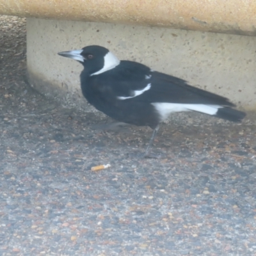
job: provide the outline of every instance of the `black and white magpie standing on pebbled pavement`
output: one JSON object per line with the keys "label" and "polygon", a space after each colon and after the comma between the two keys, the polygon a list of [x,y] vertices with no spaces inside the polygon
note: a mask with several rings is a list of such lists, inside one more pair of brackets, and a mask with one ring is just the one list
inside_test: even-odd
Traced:
{"label": "black and white magpie standing on pebbled pavement", "polygon": [[171,113],[196,111],[232,122],[241,122],[246,116],[233,109],[235,105],[225,97],[141,63],[119,60],[100,45],[58,54],[83,65],[81,90],[92,106],[118,122],[153,129],[144,157],[152,157],[150,147],[159,125]]}

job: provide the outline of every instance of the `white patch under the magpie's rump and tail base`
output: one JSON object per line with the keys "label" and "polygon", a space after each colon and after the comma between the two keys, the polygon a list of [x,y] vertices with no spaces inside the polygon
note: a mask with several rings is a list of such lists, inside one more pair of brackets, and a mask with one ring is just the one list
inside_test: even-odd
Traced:
{"label": "white patch under the magpie's rump and tail base", "polygon": [[198,111],[208,115],[216,115],[218,108],[223,108],[218,105],[204,105],[204,104],[179,104],[179,103],[166,103],[166,102],[155,102],[151,103],[156,111],[161,115],[161,121],[166,119],[172,112],[182,111]]}

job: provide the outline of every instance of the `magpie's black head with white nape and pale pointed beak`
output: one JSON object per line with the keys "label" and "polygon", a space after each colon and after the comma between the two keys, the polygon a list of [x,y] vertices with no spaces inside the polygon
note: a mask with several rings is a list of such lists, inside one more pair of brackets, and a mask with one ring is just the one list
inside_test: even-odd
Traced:
{"label": "magpie's black head with white nape and pale pointed beak", "polygon": [[90,76],[108,71],[120,63],[112,52],[99,45],[86,46],[81,50],[58,52],[58,54],[82,63]]}

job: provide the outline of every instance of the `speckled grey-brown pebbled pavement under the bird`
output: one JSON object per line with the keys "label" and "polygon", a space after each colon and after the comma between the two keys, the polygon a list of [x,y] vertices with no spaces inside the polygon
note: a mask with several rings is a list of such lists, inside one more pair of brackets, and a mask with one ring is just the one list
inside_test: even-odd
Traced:
{"label": "speckled grey-brown pebbled pavement under the bird", "polygon": [[149,128],[29,87],[25,19],[0,16],[0,54],[0,255],[256,255],[252,121],[186,114],[143,159]]}

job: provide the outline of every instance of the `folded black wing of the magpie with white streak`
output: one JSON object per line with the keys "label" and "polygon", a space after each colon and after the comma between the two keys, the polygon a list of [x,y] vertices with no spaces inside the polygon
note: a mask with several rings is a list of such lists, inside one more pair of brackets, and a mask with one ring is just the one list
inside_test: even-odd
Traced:
{"label": "folded black wing of the magpie with white streak", "polygon": [[121,61],[118,67],[104,72],[99,79],[99,88],[109,100],[234,106],[225,97],[133,61]]}

